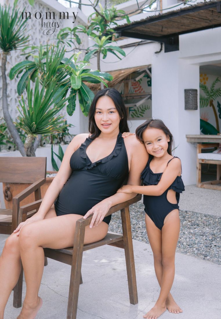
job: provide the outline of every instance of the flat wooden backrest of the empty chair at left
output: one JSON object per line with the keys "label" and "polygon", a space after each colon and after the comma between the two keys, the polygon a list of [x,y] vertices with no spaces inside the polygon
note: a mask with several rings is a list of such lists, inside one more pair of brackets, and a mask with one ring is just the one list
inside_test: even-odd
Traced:
{"label": "flat wooden backrest of the empty chair at left", "polygon": [[0,157],[0,182],[36,182],[46,177],[46,163],[46,157]]}

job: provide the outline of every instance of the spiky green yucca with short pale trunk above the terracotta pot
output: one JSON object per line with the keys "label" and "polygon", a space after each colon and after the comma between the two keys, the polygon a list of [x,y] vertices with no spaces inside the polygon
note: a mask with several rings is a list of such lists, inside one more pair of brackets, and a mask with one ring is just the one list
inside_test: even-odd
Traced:
{"label": "spiky green yucca with short pale trunk above the terracotta pot", "polygon": [[[46,89],[45,89],[46,87]],[[64,107],[65,101],[71,99],[64,98],[66,88],[60,90],[56,83],[56,78],[48,83],[44,78],[40,87],[40,79],[37,77],[34,90],[30,85],[30,78],[27,84],[27,102],[23,95],[19,100],[18,123],[16,126],[24,130],[27,134],[24,144],[26,156],[35,156],[34,139],[38,134],[53,134],[63,130],[67,125],[63,125],[63,116],[55,116]],[[58,101],[59,100],[59,101]]]}

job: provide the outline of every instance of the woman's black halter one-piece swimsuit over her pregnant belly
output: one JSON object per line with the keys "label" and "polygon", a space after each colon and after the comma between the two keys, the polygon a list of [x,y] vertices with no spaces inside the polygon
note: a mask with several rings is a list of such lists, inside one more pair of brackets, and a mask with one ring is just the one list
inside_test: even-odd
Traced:
{"label": "woman's black halter one-piece swimsuit over her pregnant belly", "polygon": [[[92,138],[71,155],[72,173],[55,200],[57,216],[78,214],[84,216],[94,205],[110,197],[127,182],[128,157],[126,147],[119,133],[113,152],[103,159],[92,163],[86,154]],[[103,219],[109,224],[111,215]]]}

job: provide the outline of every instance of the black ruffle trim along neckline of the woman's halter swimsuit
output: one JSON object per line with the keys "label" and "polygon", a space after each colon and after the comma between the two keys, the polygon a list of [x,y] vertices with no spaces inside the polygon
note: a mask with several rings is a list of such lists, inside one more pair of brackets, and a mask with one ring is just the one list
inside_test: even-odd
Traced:
{"label": "black ruffle trim along neckline of the woman's halter swimsuit", "polygon": [[109,160],[111,160],[114,156],[118,156],[119,153],[121,152],[121,147],[122,147],[122,136],[121,133],[118,134],[116,145],[114,147],[113,152],[111,154],[107,155],[103,159],[99,159],[98,161],[92,163],[89,157],[86,154],[86,148],[87,146],[92,142],[92,139],[90,137],[86,138],[85,142],[82,143],[80,146],[80,156],[84,159],[86,159],[87,165],[85,166],[85,169],[91,169],[95,166],[97,166],[99,163],[107,163]]}

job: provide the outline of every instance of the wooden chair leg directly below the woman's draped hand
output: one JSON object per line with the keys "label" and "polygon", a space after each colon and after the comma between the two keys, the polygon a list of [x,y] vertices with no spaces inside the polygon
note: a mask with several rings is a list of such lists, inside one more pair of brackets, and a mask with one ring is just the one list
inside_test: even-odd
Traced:
{"label": "wooden chair leg directly below the woman's draped hand", "polygon": [[71,263],[67,319],[76,319],[77,316],[77,301],[81,281],[81,264],[83,256],[84,238],[85,226],[81,226],[81,222],[77,221]]}

